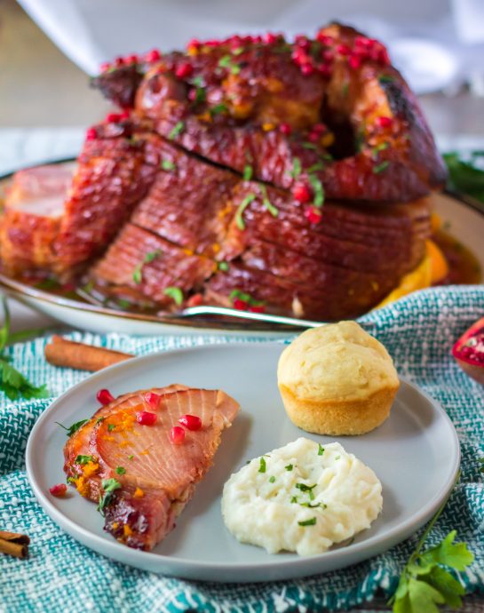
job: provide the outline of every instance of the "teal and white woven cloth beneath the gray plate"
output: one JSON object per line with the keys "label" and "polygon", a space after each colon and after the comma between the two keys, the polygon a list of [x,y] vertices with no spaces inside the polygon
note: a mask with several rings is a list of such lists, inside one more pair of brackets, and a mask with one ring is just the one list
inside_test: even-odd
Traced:
{"label": "teal and white woven cloth beneath the gray plate", "polygon": [[[429,544],[456,529],[457,538],[466,541],[475,554],[474,563],[459,579],[468,591],[480,593],[484,593],[484,475],[478,460],[484,456],[484,388],[459,370],[449,351],[454,340],[483,315],[484,288],[470,286],[421,291],[364,318],[375,323],[376,336],[393,355],[401,375],[440,401],[456,426],[462,477],[432,530]],[[71,336],[136,354],[236,340]],[[85,374],[47,365],[45,342],[40,338],[8,351],[17,368],[37,384],[47,383],[55,396]],[[0,525],[27,533],[32,540],[26,561],[0,555],[2,613],[344,610],[370,599],[378,588],[391,593],[416,545],[417,535],[351,568],[283,583],[217,585],[131,569],[79,545],[36,503],[23,456],[28,433],[50,400],[12,404],[2,397],[0,402]]]}

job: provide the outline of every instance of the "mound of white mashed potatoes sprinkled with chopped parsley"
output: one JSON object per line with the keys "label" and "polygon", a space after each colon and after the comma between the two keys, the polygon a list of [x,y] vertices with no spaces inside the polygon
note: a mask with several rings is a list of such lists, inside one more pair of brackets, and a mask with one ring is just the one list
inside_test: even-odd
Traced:
{"label": "mound of white mashed potatoes sprinkled with chopped parsley", "polygon": [[242,543],[322,553],[369,528],[382,509],[373,471],[338,442],[305,438],[255,458],[226,482],[222,514]]}

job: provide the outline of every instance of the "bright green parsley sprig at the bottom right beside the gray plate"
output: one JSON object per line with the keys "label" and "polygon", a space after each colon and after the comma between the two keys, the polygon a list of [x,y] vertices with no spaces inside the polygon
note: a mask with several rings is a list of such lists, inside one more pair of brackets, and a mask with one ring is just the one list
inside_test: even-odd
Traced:
{"label": "bright green parsley sprig at the bottom right beside the gray plate", "polygon": [[388,601],[388,604],[393,604],[393,613],[438,613],[440,604],[448,604],[453,609],[462,605],[464,587],[442,568],[464,570],[474,559],[465,543],[454,543],[456,530],[449,532],[439,545],[421,553],[444,506],[445,503],[424,530],[417,549],[401,573],[398,587]]}

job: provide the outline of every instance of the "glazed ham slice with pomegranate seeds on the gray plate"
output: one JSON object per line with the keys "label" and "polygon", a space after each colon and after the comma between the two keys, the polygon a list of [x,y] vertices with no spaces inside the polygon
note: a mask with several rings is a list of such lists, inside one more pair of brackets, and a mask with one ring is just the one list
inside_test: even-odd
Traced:
{"label": "glazed ham slice with pomegranate seeds on the gray plate", "polygon": [[[149,551],[174,528],[238,410],[220,390],[175,385],[125,394],[69,438],[64,470],[81,495],[99,503],[108,532]],[[143,411],[155,415],[154,424],[139,423]],[[175,444],[171,430],[185,415],[202,426],[184,429]]]}

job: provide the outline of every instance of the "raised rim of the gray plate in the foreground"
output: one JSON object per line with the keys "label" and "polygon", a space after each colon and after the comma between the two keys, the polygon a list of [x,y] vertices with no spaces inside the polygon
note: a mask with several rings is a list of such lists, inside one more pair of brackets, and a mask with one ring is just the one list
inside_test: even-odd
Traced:
{"label": "raised rim of the gray plate in the foreground", "polygon": [[[258,346],[258,349],[261,348],[261,346],[282,348],[283,345],[284,344],[282,342],[267,341],[264,343],[260,343],[260,346]],[[168,555],[164,555],[160,553],[153,553],[153,552],[142,552],[142,551],[138,551],[135,549],[130,549],[126,547],[126,545],[122,545],[118,543],[117,541],[115,541],[115,539],[110,541],[104,537],[100,537],[97,534],[93,534],[89,529],[83,528],[83,526],[80,526],[75,521],[68,518],[64,513],[60,512],[52,504],[51,499],[47,496],[44,490],[42,490],[40,485],[36,482],[36,468],[35,468],[35,463],[33,459],[33,455],[35,452],[36,436],[38,433],[41,432],[42,427],[44,426],[44,423],[49,420],[51,413],[55,411],[58,405],[61,405],[63,402],[65,402],[68,399],[68,396],[70,394],[75,393],[76,391],[78,391],[79,389],[82,389],[83,387],[90,387],[92,385],[95,385],[97,380],[99,379],[102,380],[102,378],[106,376],[107,372],[110,373],[110,372],[117,371],[117,370],[122,371],[122,370],[130,369],[133,363],[135,363],[138,366],[139,364],[142,364],[143,362],[154,361],[156,359],[159,359],[160,357],[164,357],[165,359],[166,358],[170,359],[170,356],[173,354],[186,354],[186,353],[195,353],[195,352],[202,353],[203,351],[214,351],[214,350],[220,351],[220,350],[226,350],[227,348],[236,350],[236,351],[240,351],[240,350],[248,351],[248,350],[253,350],[254,346],[252,346],[252,344],[245,344],[245,343],[224,342],[224,343],[219,343],[217,345],[209,344],[209,345],[200,345],[200,346],[192,346],[192,347],[182,347],[182,348],[170,349],[166,351],[158,351],[153,354],[140,355],[138,357],[133,358],[130,361],[120,362],[118,364],[114,364],[113,366],[109,366],[107,369],[99,370],[98,372],[91,374],[87,378],[84,378],[82,381],[77,383],[75,386],[72,386],[69,389],[67,389],[66,392],[64,392],[58,398],[56,398],[41,413],[39,418],[37,418],[36,423],[32,427],[30,434],[28,435],[28,442],[27,442],[26,451],[25,451],[28,482],[36,496],[37,502],[43,508],[44,512],[47,513],[51,517],[52,521],[54,521],[58,526],[60,526],[60,528],[63,529],[65,532],[67,532],[67,534],[69,534],[71,537],[75,538],[77,542],[80,542],[83,546],[86,546],[91,551],[99,553],[100,555],[103,555],[105,557],[109,557],[115,561],[128,564],[129,566],[134,567],[134,568],[138,568],[138,569],[145,568],[146,569],[147,565],[145,564],[143,567],[143,564],[142,564],[143,561],[151,560],[154,564],[157,561],[158,567],[162,567],[163,564],[166,564],[168,562],[171,565],[173,570],[167,571],[166,569],[161,569],[161,568],[153,569],[152,566],[150,566],[151,572],[164,574],[164,575],[172,576],[172,577],[189,578],[189,574],[192,572],[193,569],[200,569],[202,571],[202,576],[196,577],[196,580],[201,580],[201,581],[207,580],[207,581],[212,581],[212,582],[215,581],[218,583],[230,583],[230,582],[245,583],[245,582],[255,582],[255,581],[266,581],[267,579],[266,578],[260,578],[260,579],[250,578],[250,579],[244,580],[243,577],[234,578],[234,574],[236,572],[243,573],[246,570],[250,570],[254,572],[257,570],[267,571],[269,569],[274,569],[274,568],[282,569],[283,571],[283,569],[286,569],[286,567],[289,567],[290,569],[291,567],[296,566],[297,568],[303,569],[303,572],[298,573],[298,571],[296,571],[293,575],[289,574],[288,576],[306,577],[306,576],[313,575],[313,574],[321,574],[321,573],[329,572],[330,569],[322,569],[322,570],[316,571],[316,573],[314,573],[314,571],[311,571],[309,569],[308,569],[309,570],[308,572],[304,570],[305,567],[311,568],[314,565],[317,565],[318,561],[321,561],[323,559],[331,561],[331,560],[342,557],[343,563],[337,562],[337,565],[334,567],[334,569],[342,569],[342,568],[345,568],[345,566],[349,566],[359,561],[363,561],[363,560],[367,560],[369,558],[375,557],[375,555],[377,555],[378,553],[387,551],[393,545],[403,542],[411,534],[414,534],[415,532],[417,532],[417,530],[421,528],[424,525],[424,523],[426,523],[427,521],[431,519],[432,515],[440,508],[442,504],[444,504],[444,501],[447,501],[452,490],[454,489],[454,485],[456,483],[456,476],[458,474],[459,466],[461,462],[460,443],[459,443],[458,436],[456,433],[456,428],[454,424],[452,423],[452,420],[448,417],[447,411],[441,406],[440,402],[434,400],[432,396],[424,392],[424,390],[420,386],[417,386],[416,384],[412,383],[409,380],[409,378],[399,375],[401,382],[404,385],[409,386],[417,394],[423,396],[424,399],[427,402],[429,402],[430,405],[432,406],[432,410],[435,411],[437,415],[440,416],[440,418],[443,418],[444,422],[447,424],[451,438],[454,443],[452,447],[453,458],[451,458],[452,461],[451,461],[451,464],[449,464],[449,474],[448,474],[448,477],[445,483],[445,487],[443,488],[443,490],[441,490],[440,493],[434,495],[432,499],[429,500],[423,507],[421,507],[417,511],[417,513],[414,513],[412,517],[409,517],[407,520],[398,524],[393,529],[386,532],[384,535],[379,535],[379,536],[374,535],[372,537],[369,537],[368,539],[361,541],[360,543],[354,543],[353,545],[351,545],[352,550],[350,553],[347,553],[349,551],[349,549],[347,548],[333,549],[333,550],[329,550],[329,552],[319,553],[319,554],[315,554],[315,555],[307,556],[307,557],[301,556],[298,559],[291,559],[291,560],[283,560],[282,558],[278,559],[277,556],[274,556],[274,560],[271,560],[270,562],[265,561],[265,562],[258,562],[258,563],[231,562],[231,561],[228,561],[228,562],[196,561],[194,562],[186,558],[177,558],[176,560],[173,560],[173,558]],[[223,527],[223,524],[222,524],[222,527]],[[77,536],[78,534],[80,534],[82,538],[78,537]],[[89,543],[89,545],[86,545],[86,542]],[[378,545],[384,546],[384,548],[381,549],[380,552],[371,553],[369,551],[372,549],[372,547],[377,547]],[[102,549],[103,551],[99,551],[99,548]],[[116,555],[116,553],[119,553],[119,555]],[[125,555],[123,555],[123,553],[125,553]],[[351,555],[352,553],[353,553],[353,556]],[[139,561],[140,564],[137,565],[137,564],[132,563],[131,561],[124,561],[126,558],[131,558],[131,557],[134,558],[134,561]],[[214,578],[212,573],[215,574],[218,571],[220,571],[222,574],[223,573],[225,573],[226,575],[228,574],[228,576],[227,577],[221,576],[218,578]],[[208,578],[207,576],[210,576],[211,578]],[[191,577],[191,578],[194,578],[194,577]]]}

